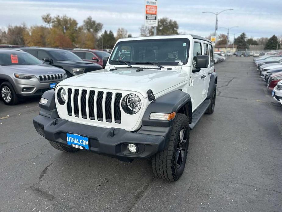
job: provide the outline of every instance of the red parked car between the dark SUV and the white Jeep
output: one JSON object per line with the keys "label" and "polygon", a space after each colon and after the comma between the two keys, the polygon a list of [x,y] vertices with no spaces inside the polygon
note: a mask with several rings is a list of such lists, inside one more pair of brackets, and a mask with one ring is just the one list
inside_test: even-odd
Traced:
{"label": "red parked car between the dark SUV and the white Jeep", "polygon": [[76,54],[82,60],[92,63],[98,63],[101,66],[103,66],[103,57],[110,56],[108,52],[91,50],[91,49],[76,49],[76,50],[72,50],[71,52]]}

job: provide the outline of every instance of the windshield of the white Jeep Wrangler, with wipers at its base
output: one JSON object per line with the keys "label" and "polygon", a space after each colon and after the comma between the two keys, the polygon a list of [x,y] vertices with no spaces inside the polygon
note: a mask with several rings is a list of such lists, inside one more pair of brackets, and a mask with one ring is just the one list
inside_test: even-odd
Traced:
{"label": "windshield of the white Jeep Wrangler, with wipers at its base", "polygon": [[187,38],[121,41],[114,48],[109,64],[121,64],[118,61],[124,60],[130,62],[130,65],[142,65],[143,62],[184,65],[188,61],[188,53]]}

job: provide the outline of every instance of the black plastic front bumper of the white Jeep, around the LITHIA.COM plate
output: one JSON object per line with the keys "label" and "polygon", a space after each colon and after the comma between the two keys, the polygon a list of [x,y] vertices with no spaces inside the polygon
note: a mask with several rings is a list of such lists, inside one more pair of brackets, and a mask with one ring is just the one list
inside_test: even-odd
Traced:
{"label": "black plastic front bumper of the white Jeep, around the LITHIA.COM plate", "polygon": [[[162,151],[171,127],[142,126],[137,132],[119,128],[103,128],[74,123],[60,118],[49,118],[42,113],[33,119],[34,127],[46,139],[67,145],[66,133],[77,133],[89,138],[90,151],[118,159],[149,158]],[[137,153],[130,153],[127,144],[136,144]],[[84,150],[88,151],[88,150]]]}

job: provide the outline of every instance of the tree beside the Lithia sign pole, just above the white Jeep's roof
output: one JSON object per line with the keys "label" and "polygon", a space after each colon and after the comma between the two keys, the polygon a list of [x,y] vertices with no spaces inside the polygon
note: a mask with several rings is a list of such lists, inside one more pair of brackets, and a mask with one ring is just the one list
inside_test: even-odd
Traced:
{"label": "tree beside the Lithia sign pole, just above the white Jeep's roof", "polygon": [[[149,35],[154,35],[154,27],[150,27]],[[167,17],[158,20],[157,35],[178,35],[177,21]]]}

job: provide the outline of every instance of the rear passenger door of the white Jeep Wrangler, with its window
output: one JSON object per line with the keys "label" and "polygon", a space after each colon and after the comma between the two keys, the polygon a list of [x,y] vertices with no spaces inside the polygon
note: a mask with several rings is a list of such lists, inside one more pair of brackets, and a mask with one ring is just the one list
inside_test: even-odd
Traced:
{"label": "rear passenger door of the white Jeep Wrangler, with its window", "polygon": [[205,75],[205,77],[203,78],[204,81],[204,90],[203,90],[203,99],[202,101],[204,101],[207,98],[208,95],[208,90],[209,90],[209,81],[210,81],[210,76],[211,73],[213,72],[213,57],[212,57],[212,49],[210,51],[210,47],[212,48],[211,44],[208,44],[207,42],[203,42],[203,46],[204,46],[204,55],[208,55],[209,56],[209,66],[208,68],[203,68],[203,74]]}

